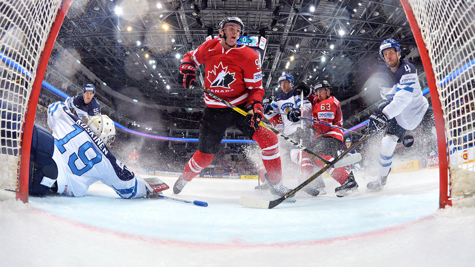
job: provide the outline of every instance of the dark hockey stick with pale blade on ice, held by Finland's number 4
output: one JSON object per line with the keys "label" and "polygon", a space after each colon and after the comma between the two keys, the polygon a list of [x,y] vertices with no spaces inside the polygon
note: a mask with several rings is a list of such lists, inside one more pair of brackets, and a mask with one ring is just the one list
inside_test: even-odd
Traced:
{"label": "dark hockey stick with pale blade on ice, held by Finland's number 4", "polygon": [[285,196],[278,198],[276,200],[260,200],[260,199],[255,199],[252,197],[247,197],[247,196],[241,196],[239,198],[239,204],[242,206],[246,207],[251,207],[251,208],[260,208],[260,209],[272,209],[275,206],[281,204],[285,199],[293,196],[296,192],[298,192],[300,189],[305,187],[307,184],[312,182],[314,179],[322,175],[324,172],[326,172],[332,165],[340,161],[348,152],[350,152],[354,147],[359,145],[361,141],[366,139],[366,137],[369,136],[369,131],[366,132],[358,142],[353,143],[350,147],[348,147],[343,153],[341,153],[334,161],[332,161],[330,164],[327,164],[325,167],[323,167],[320,171],[318,171],[316,174],[312,175],[310,178],[302,182],[299,186],[295,187],[290,193],[286,194]]}

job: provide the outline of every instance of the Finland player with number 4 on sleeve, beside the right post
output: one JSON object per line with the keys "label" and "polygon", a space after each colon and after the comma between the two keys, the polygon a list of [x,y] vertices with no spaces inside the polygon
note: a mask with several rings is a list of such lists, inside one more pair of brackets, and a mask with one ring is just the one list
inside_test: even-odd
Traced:
{"label": "Finland player with number 4 on sleeve, beside the right post", "polygon": [[381,190],[386,184],[394,149],[402,141],[406,130],[414,130],[423,119],[430,117],[429,104],[422,95],[416,67],[400,59],[401,46],[393,39],[383,41],[380,57],[387,66],[378,71],[380,93],[384,100],[370,116],[367,129],[372,133],[382,130],[386,133],[381,141],[380,177],[368,183],[370,190]]}

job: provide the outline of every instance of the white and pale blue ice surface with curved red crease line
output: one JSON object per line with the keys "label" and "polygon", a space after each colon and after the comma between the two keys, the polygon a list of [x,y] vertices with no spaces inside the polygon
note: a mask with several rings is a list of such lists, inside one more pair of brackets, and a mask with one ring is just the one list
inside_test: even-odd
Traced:
{"label": "white and pale blue ice surface with curved red crease line", "polygon": [[373,179],[357,173],[359,192],[338,198],[325,178],[326,195],[299,192],[271,210],[238,204],[272,198],[256,180],[211,178],[176,196],[208,207],[121,199],[101,183],[82,198],[2,201],[0,266],[473,266],[475,208],[438,209],[438,169],[390,174],[366,192]]}

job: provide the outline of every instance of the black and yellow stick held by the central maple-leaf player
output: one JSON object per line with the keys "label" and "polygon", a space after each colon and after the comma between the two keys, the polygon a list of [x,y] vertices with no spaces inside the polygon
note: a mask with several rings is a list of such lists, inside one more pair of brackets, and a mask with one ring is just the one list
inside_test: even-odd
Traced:
{"label": "black and yellow stick held by the central maple-leaf player", "polygon": [[[207,95],[213,97],[214,99],[220,101],[221,103],[227,105],[228,107],[232,108],[233,110],[235,110],[236,112],[240,113],[241,115],[243,116],[247,116],[249,115],[249,113],[245,112],[244,110],[238,108],[237,106],[231,104],[230,102],[224,100],[223,98],[217,96],[216,94],[200,87],[200,86],[192,86],[194,88],[197,88],[201,91],[203,91],[204,93],[206,93]],[[272,128],[270,125],[264,123],[263,121],[261,121],[259,123],[260,126],[272,131],[274,134],[277,134],[277,136],[283,138],[284,140],[286,140],[287,142],[293,144],[294,146],[302,149],[303,151],[307,152],[310,156],[314,157],[314,158],[317,158],[318,160],[322,161],[323,163],[325,164],[330,164],[331,162],[329,162],[328,160],[320,157],[319,155],[317,155],[316,153],[312,152],[310,149],[306,148],[304,145],[300,144],[299,142],[293,140],[292,138],[288,137],[287,135],[285,134],[282,134],[281,132],[277,131],[276,129]],[[342,162],[340,162],[339,164],[335,165],[334,167],[335,168],[338,168],[338,167],[343,167],[343,166],[347,166],[347,165],[351,165],[353,163],[356,163],[358,161],[361,160],[361,154],[360,153],[355,153],[355,154],[352,154],[348,157],[346,157]],[[334,162],[333,164],[335,164],[336,162]]]}

